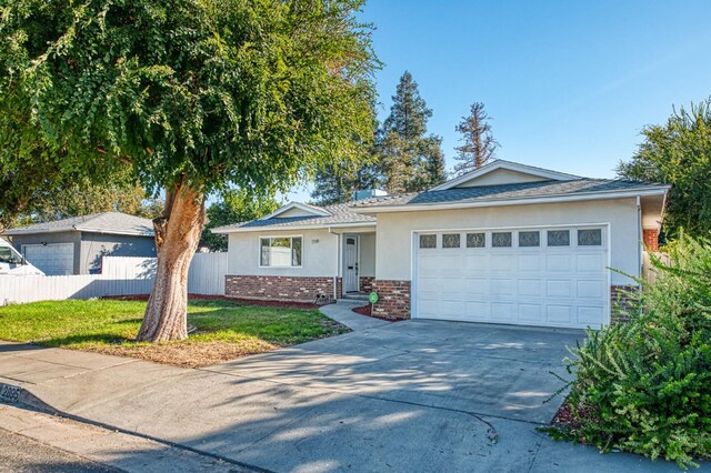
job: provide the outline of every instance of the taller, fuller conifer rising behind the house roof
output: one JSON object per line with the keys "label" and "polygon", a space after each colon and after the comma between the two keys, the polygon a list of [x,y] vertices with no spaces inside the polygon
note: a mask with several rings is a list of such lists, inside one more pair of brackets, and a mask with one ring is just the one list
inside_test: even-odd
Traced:
{"label": "taller, fuller conifer rising behind the house roof", "polygon": [[420,97],[412,74],[405,71],[392,97],[378,150],[384,183],[391,193],[423,191],[445,180],[442,139],[427,134],[432,110]]}

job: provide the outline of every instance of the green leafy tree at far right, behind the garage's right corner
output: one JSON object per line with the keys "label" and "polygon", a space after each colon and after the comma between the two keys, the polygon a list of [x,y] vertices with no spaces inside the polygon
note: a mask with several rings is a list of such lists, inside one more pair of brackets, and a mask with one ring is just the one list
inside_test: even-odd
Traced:
{"label": "green leafy tree at far right, behind the garage's right corner", "polygon": [[663,125],[642,130],[644,142],[618,175],[671,184],[664,231],[675,235],[711,232],[711,99],[674,110]]}

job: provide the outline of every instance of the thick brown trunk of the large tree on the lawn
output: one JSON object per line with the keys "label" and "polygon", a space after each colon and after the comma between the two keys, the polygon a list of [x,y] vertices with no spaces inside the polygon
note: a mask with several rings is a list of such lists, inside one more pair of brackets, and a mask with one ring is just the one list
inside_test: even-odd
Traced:
{"label": "thick brown trunk of the large tree on the lawn", "polygon": [[138,340],[188,338],[188,268],[204,224],[204,195],[179,184],[166,197],[163,217],[153,221],[158,270]]}

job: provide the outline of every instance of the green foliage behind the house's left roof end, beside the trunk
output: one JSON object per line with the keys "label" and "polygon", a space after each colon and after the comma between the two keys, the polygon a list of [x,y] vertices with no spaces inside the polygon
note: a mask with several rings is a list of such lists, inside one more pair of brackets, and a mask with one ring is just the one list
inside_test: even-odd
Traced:
{"label": "green foliage behind the house's left roof end, beside the trunk", "polygon": [[208,223],[202,231],[200,245],[210,251],[227,251],[227,235],[212,233],[212,229],[259,219],[278,208],[279,202],[272,198],[259,198],[244,190],[223,192],[220,200],[208,207]]}

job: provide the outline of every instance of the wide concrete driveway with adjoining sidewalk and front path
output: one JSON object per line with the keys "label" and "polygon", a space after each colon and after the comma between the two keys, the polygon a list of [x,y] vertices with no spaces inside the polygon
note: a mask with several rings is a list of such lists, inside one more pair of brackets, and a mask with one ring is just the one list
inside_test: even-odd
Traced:
{"label": "wide concrete driveway with adjoining sidewalk and front path", "polygon": [[[201,370],[0,345],[0,382],[58,411],[277,472],[677,471],[600,455],[535,427],[558,409],[581,332],[388,323],[323,308],[354,332]],[[711,471],[704,465],[703,471]]]}

